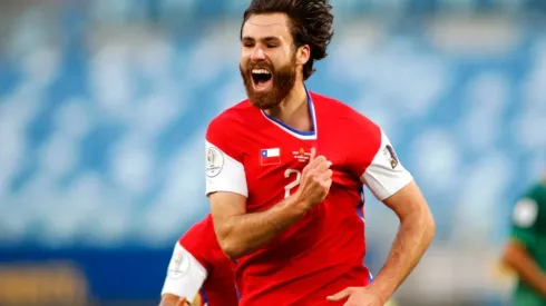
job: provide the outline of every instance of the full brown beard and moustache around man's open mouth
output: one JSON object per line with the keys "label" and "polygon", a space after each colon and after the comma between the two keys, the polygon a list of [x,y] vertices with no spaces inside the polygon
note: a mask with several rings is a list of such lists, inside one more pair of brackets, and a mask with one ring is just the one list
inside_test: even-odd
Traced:
{"label": "full brown beard and moustache around man's open mouth", "polygon": [[[292,59],[286,65],[275,68],[265,61],[252,62],[248,61],[246,67],[240,65],[241,77],[243,78],[244,87],[248,100],[254,107],[266,110],[275,108],[289,96],[294,88],[296,79],[295,52]],[[252,69],[265,69],[271,72],[271,88],[266,91],[254,90],[254,79],[251,73]]]}

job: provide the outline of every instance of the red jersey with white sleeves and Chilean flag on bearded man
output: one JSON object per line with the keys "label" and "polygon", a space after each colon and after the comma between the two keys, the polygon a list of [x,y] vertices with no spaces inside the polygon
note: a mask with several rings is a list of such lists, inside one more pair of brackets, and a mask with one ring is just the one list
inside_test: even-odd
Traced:
{"label": "red jersey with white sleeves and Chilean flag on bearded man", "polygon": [[381,128],[349,106],[308,92],[313,131],[294,130],[245,100],[206,134],[206,193],[244,195],[248,213],[294,194],[311,148],[332,161],[332,186],[285,233],[237,261],[241,306],[343,305],[326,296],[365,286],[363,189],[383,200],[412,180]]}

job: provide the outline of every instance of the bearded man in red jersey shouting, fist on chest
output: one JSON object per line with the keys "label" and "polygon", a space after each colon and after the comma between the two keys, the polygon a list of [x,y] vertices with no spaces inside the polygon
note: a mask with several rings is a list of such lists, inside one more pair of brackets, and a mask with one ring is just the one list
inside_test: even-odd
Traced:
{"label": "bearded man in red jersey shouting, fist on chest", "polygon": [[[326,57],[325,0],[254,0],[241,29],[248,100],[206,134],[206,194],[242,306],[384,305],[430,244],[435,225],[381,129],[306,90]],[[365,253],[365,184],[400,218],[374,282]]]}

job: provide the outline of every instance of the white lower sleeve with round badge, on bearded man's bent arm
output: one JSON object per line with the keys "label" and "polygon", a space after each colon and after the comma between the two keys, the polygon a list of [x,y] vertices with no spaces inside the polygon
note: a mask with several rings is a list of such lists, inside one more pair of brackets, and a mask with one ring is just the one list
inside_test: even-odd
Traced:
{"label": "white lower sleeve with round badge, on bearded man's bent arm", "polygon": [[206,195],[228,191],[248,197],[243,164],[206,141]]}

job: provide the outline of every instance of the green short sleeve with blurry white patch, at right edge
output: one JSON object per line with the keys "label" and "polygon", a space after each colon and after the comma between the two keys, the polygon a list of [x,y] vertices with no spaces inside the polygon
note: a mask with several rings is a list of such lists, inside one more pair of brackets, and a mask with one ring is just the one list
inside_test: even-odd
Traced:
{"label": "green short sleeve with blurry white patch, at right edge", "polygon": [[538,218],[539,206],[532,197],[521,198],[514,206],[511,214],[511,236],[525,246],[533,246],[536,241],[535,224]]}

